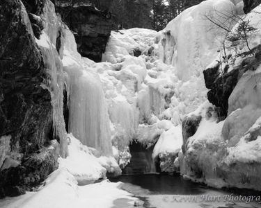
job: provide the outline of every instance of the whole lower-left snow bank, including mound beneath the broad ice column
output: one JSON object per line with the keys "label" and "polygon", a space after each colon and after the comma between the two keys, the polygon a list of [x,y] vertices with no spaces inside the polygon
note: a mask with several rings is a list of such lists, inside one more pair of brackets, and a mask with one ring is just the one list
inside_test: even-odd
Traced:
{"label": "whole lower-left snow bank, including mound beneath the broad ice column", "polygon": [[[104,157],[97,150],[81,144],[72,134],[68,135],[68,157],[58,159],[58,169],[41,187],[23,196],[0,200],[0,207],[113,207],[121,198],[134,205],[127,191],[121,190],[122,183],[111,183],[106,172],[120,171],[113,157]],[[120,173],[118,173],[120,174]],[[102,180],[91,184],[97,180]]]}

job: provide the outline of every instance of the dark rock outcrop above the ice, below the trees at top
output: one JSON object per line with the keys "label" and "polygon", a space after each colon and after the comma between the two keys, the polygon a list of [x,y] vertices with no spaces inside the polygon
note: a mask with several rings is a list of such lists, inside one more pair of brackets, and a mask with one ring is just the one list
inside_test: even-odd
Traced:
{"label": "dark rock outcrop above the ice, below the trees at top", "polygon": [[102,53],[111,35],[111,14],[92,5],[68,6],[56,1],[56,12],[68,24],[82,56],[95,62],[102,61]]}

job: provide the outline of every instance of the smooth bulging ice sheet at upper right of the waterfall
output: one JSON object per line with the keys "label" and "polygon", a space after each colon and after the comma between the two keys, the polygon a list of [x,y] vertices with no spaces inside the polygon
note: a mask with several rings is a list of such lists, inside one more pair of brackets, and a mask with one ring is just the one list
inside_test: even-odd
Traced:
{"label": "smooth bulging ice sheet at upper right of the waterfall", "polygon": [[181,80],[202,76],[202,70],[219,54],[226,35],[212,21],[232,28],[236,21],[228,17],[242,15],[243,6],[242,0],[208,0],[184,10],[161,31],[161,60],[177,67]]}

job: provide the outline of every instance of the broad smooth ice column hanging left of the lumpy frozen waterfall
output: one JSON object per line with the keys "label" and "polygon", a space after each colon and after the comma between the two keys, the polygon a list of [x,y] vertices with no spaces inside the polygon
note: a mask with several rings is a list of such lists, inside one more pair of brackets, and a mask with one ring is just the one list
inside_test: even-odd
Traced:
{"label": "broad smooth ice column hanging left of the lumpy frozen waterfall", "polygon": [[69,98],[69,132],[82,144],[100,150],[102,155],[112,155],[109,114],[99,76],[90,70],[88,60],[77,53],[74,35],[63,31],[63,67]]}

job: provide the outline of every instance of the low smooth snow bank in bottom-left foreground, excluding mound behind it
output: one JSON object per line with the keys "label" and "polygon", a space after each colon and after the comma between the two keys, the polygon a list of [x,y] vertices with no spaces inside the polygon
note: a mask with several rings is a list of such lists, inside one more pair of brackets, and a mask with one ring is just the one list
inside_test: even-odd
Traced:
{"label": "low smooth snow bank in bottom-left foreground, excluding mound behind it", "polygon": [[[120,190],[122,183],[111,183],[109,180],[97,184],[78,186],[73,175],[65,168],[54,171],[45,185],[37,192],[29,192],[18,198],[7,198],[0,202],[3,208],[64,208],[64,207],[113,207],[113,202],[118,199],[129,200],[134,205],[134,200],[130,193]],[[102,196],[102,197],[101,197]]]}

